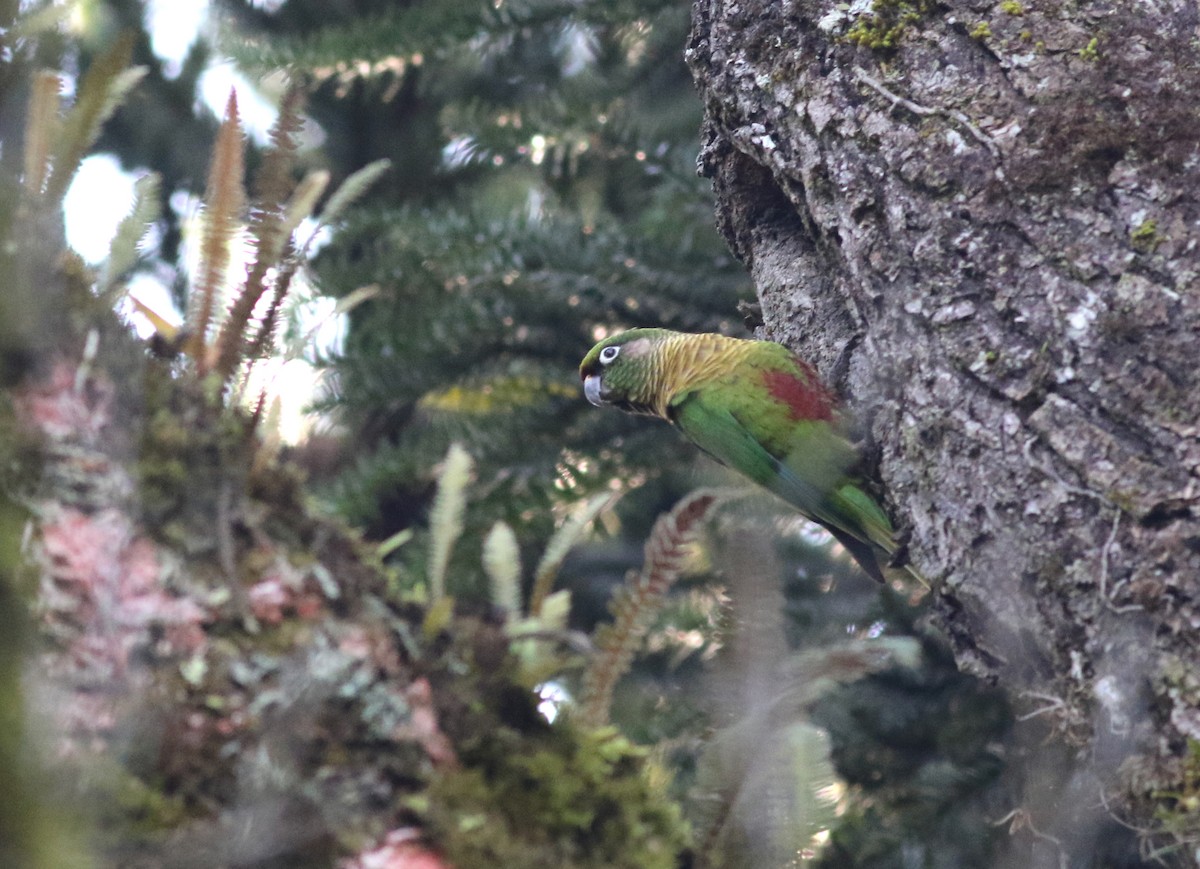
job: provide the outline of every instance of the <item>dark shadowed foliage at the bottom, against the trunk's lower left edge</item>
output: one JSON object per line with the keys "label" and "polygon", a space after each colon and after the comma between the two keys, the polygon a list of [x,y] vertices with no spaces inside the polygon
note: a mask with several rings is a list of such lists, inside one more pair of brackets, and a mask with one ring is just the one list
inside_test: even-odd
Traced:
{"label": "dark shadowed foliage at the bottom, against the trunk's lower left edge", "polygon": [[839,773],[862,793],[818,865],[900,867],[913,855],[920,865],[991,862],[1001,833],[989,823],[988,787],[1003,766],[995,745],[1007,703],[932,640],[923,652],[924,666],[842,685],[814,709]]}

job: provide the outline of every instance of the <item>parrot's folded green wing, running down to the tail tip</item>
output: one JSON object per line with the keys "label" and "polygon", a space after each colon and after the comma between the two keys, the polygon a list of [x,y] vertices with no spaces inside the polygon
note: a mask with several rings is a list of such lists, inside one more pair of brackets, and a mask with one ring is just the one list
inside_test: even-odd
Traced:
{"label": "parrot's folded green wing, running down to the tail tip", "polygon": [[[716,461],[770,490],[810,520],[829,531],[874,579],[883,581],[876,546],[894,549],[887,516],[865,492],[846,480],[844,449],[814,437],[806,455],[772,455],[722,402],[692,390],[671,402],[676,426]],[[823,430],[827,431],[827,430]],[[812,469],[803,474],[796,465]],[[872,545],[874,544],[874,545]]]}

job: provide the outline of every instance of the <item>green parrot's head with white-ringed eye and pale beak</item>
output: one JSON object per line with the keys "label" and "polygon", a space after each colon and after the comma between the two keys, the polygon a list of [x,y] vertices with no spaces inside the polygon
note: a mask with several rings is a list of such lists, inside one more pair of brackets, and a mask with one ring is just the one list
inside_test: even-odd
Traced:
{"label": "green parrot's head with white-ringed eye and pale beak", "polygon": [[598,343],[580,362],[583,395],[596,407],[656,415],[655,352],[670,335],[666,329],[630,329]]}

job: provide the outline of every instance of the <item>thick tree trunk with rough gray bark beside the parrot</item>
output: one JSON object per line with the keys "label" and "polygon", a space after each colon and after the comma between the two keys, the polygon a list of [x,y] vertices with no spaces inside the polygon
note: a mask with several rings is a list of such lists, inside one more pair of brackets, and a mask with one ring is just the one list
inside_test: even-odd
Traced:
{"label": "thick tree trunk with rough gray bark beside the parrot", "polygon": [[870,421],[960,665],[1054,725],[1013,759],[1037,865],[1103,850],[1110,813],[1200,831],[1162,796],[1195,792],[1200,741],[1198,25],[1180,0],[694,10],[701,168],[764,336]]}

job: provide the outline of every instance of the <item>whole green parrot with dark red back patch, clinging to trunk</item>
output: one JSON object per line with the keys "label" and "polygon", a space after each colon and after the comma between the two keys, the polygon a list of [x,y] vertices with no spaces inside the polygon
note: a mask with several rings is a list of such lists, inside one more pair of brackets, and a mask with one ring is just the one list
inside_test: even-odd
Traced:
{"label": "whole green parrot with dark red back patch, clinging to trunk", "polygon": [[790,349],[631,329],[593,347],[580,378],[593,404],[667,420],[721,465],[824,526],[883,581],[881,564],[896,551],[892,523],[853,477],[858,451],[833,392]]}

